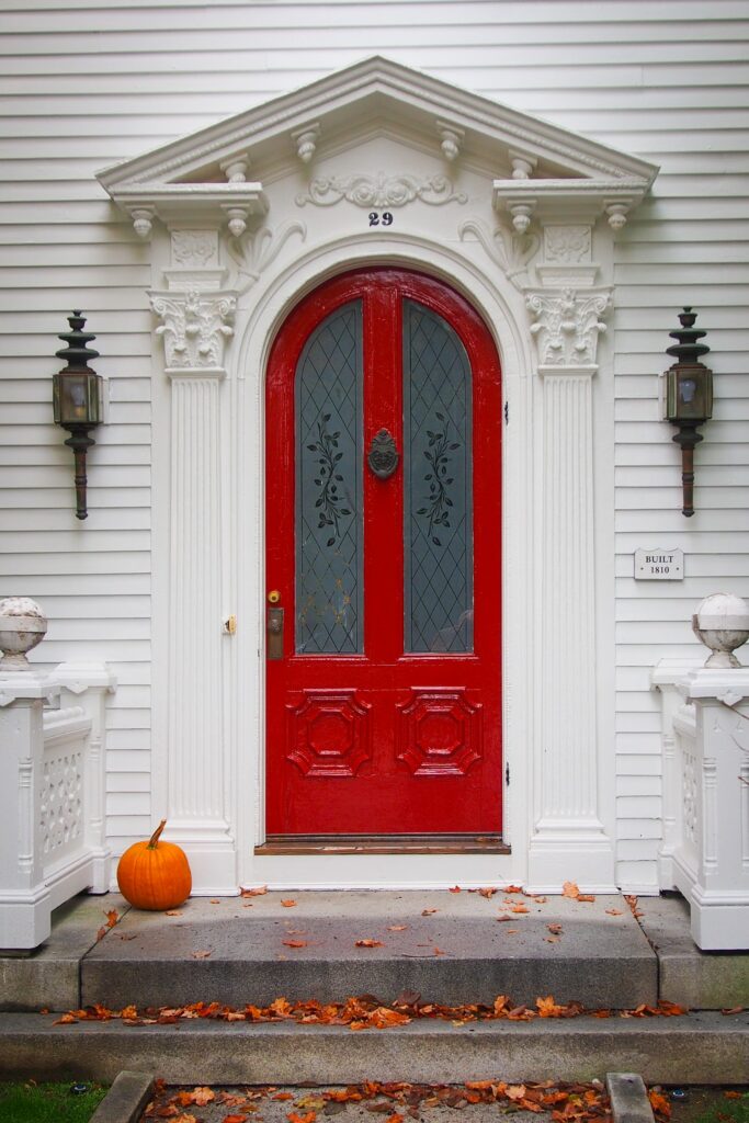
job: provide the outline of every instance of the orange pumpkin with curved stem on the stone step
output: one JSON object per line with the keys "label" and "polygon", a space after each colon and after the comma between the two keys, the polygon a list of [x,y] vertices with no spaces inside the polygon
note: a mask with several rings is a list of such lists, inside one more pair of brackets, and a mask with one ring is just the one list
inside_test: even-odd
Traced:
{"label": "orange pumpkin with curved stem on the stone step", "polygon": [[135,842],[117,867],[117,884],[126,901],[136,909],[163,912],[175,909],[190,896],[192,874],[188,856],[174,842],[159,842],[166,820],[147,842]]}

